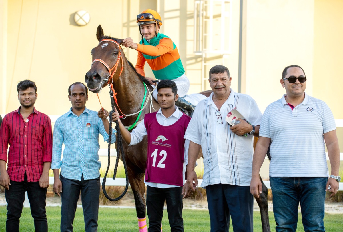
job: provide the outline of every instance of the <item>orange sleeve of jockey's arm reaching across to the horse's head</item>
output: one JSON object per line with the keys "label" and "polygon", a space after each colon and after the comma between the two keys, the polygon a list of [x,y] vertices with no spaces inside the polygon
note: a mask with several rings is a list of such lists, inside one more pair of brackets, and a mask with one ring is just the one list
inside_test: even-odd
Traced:
{"label": "orange sleeve of jockey's arm reaching across to the horse's head", "polygon": [[137,44],[137,51],[142,52],[143,54],[146,54],[148,56],[162,56],[163,54],[166,54],[168,52],[171,52],[174,50],[173,41],[171,41],[170,38],[163,38],[159,40],[159,44],[155,47],[152,45],[142,45]]}

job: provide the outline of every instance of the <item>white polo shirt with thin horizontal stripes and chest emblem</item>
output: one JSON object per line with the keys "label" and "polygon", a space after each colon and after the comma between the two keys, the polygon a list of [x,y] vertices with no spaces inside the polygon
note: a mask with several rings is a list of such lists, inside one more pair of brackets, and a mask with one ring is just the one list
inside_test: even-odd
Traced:
{"label": "white polo shirt with thin horizontal stripes and chest emblem", "polygon": [[324,133],[336,130],[328,105],[305,94],[293,110],[285,96],[265,109],[260,136],[271,138],[269,175],[325,177],[329,175]]}

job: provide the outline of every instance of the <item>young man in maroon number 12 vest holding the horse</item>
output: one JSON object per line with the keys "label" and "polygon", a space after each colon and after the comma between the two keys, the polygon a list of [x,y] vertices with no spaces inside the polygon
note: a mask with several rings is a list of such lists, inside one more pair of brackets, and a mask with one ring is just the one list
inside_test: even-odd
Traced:
{"label": "young man in maroon number 12 vest holding the horse", "polygon": [[[129,146],[141,142],[145,135],[148,136],[144,182],[147,185],[149,232],[161,231],[165,200],[171,231],[184,231],[182,199],[192,194],[187,183],[184,184],[188,153],[185,147],[188,150],[189,145],[189,141],[185,143],[184,136],[190,117],[175,107],[178,99],[175,82],[163,80],[157,85],[157,91],[161,109],[145,114],[143,122],[132,133],[120,122],[117,110],[112,118],[113,121],[118,120],[121,136]],[[145,219],[139,218],[139,222],[142,220]],[[139,226],[144,227],[142,224]]]}

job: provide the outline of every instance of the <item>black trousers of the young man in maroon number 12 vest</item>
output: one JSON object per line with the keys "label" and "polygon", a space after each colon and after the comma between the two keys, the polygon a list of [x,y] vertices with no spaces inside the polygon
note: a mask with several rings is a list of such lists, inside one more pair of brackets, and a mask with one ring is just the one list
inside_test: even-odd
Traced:
{"label": "black trousers of the young man in maroon number 12 vest", "polygon": [[146,188],[146,211],[149,218],[149,232],[161,231],[164,201],[167,203],[170,231],[184,231],[182,219],[182,187]]}

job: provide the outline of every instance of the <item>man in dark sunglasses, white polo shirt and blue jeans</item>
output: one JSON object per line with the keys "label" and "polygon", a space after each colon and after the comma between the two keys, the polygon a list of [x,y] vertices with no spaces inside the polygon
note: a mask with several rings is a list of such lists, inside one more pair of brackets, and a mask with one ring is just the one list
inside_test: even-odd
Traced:
{"label": "man in dark sunglasses, white polo shirt and blue jeans", "polygon": [[[325,102],[305,93],[306,76],[300,66],[287,66],[280,82],[286,94],[264,111],[250,193],[258,198],[262,191],[259,171],[271,141],[269,176],[276,231],[296,231],[299,203],[304,230],[325,231],[326,191],[335,195],[341,179],[335,121]],[[329,179],[325,144],[331,164]]]}

